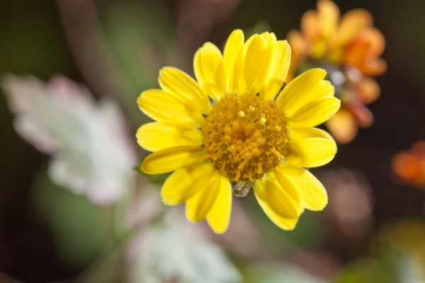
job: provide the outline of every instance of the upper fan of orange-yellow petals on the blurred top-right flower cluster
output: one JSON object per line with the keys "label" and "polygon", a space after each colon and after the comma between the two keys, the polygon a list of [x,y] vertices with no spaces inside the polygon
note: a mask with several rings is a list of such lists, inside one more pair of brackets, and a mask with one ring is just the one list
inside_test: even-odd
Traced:
{"label": "upper fan of orange-yellow petals on the blurred top-right flower cluster", "polygon": [[354,66],[364,76],[378,76],[387,69],[380,58],[385,38],[373,27],[372,15],[363,9],[340,17],[334,2],[319,0],[317,11],[310,10],[302,16],[301,31],[290,31],[288,41],[293,48],[294,67],[312,57]]}

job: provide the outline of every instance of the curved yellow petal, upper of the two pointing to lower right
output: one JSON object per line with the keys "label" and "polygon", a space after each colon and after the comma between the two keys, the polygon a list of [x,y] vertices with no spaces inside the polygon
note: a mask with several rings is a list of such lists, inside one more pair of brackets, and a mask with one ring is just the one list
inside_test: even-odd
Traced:
{"label": "curved yellow petal, upper of the two pointing to lower right", "polygon": [[[280,163],[275,168],[276,177],[283,187],[293,187],[300,194],[301,205],[310,210],[322,210],[328,197],[322,183],[305,168]],[[285,184],[285,185],[283,185]]]}

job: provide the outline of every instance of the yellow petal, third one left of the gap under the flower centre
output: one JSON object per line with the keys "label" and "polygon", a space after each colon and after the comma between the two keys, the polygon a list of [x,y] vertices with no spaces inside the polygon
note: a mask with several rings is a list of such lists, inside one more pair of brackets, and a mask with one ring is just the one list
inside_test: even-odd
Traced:
{"label": "yellow petal, third one left of the gap under the flower centre", "polygon": [[172,173],[162,186],[162,202],[179,204],[203,190],[211,181],[215,168],[210,162],[203,162]]}

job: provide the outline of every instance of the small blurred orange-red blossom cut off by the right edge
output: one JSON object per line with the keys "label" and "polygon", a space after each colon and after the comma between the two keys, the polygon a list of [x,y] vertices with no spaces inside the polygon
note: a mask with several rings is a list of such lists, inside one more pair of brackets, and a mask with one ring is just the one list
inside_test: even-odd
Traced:
{"label": "small blurred orange-red blossom cut off by the right edge", "polygon": [[425,141],[418,141],[409,151],[392,158],[392,172],[400,183],[425,187]]}

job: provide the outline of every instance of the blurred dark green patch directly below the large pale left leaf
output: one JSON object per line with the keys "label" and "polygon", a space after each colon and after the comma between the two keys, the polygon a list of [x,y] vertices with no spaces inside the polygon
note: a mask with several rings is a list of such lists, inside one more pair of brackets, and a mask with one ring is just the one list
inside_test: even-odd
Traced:
{"label": "blurred dark green patch directly below the large pale left leaf", "polygon": [[55,185],[45,170],[35,180],[33,205],[52,231],[62,260],[74,267],[89,265],[113,235],[113,207],[98,207]]}

